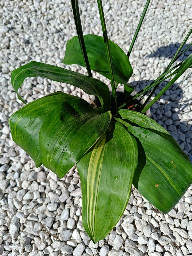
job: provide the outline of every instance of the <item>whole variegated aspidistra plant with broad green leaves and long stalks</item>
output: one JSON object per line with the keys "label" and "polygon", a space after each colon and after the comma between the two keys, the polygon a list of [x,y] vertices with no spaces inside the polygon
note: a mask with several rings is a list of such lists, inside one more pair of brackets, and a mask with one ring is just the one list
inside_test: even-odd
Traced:
{"label": "whole variegated aspidistra plant with broad green leaves and long stalks", "polygon": [[[129,56],[144,20],[147,1],[138,28],[126,55],[108,40],[103,7],[98,7],[103,37],[83,36],[77,0],[71,0],[78,37],[67,43],[65,64],[87,68],[89,76],[39,62],[30,62],[12,72],[11,82],[18,94],[27,77],[44,77],[68,83],[95,95],[96,106],[63,92],[31,102],[14,113],[9,124],[13,140],[35,161],[62,178],[77,164],[82,186],[82,221],[94,243],[115,227],[129,202],[132,184],[155,207],[168,213],[192,182],[192,165],[170,134],[144,113],[192,65],[192,55],[172,67],[183,52],[192,29],[185,37],[167,69],[137,93],[129,84],[133,69]],[[92,78],[94,70],[111,80],[108,86]],[[154,93],[159,84],[174,76],[167,86],[140,112],[127,109],[127,103]],[[116,82],[116,84],[115,84]],[[124,103],[118,106],[116,88],[125,88]],[[147,102],[151,98],[151,93]],[[146,103],[147,103],[146,102]]]}

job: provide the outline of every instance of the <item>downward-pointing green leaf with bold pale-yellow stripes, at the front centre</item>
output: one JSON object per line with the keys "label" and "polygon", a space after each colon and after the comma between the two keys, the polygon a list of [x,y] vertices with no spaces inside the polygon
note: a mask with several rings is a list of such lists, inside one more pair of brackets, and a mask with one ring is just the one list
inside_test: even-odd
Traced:
{"label": "downward-pointing green leaf with bold pale-yellow stripes, at the front centre", "polygon": [[104,239],[123,215],[138,162],[137,142],[124,126],[112,122],[81,158],[83,226],[94,243]]}

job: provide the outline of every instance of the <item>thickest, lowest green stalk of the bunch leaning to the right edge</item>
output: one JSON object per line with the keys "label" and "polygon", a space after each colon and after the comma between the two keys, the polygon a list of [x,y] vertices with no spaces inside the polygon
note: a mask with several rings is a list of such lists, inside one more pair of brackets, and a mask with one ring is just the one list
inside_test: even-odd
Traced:
{"label": "thickest, lowest green stalk of the bunch leaning to the right edge", "polygon": [[192,64],[192,54],[190,54],[185,61],[183,62],[183,65],[176,74],[176,76],[163,88],[161,92],[157,94],[157,96],[141,111],[141,113],[145,113],[148,109],[151,108],[151,106],[159,99],[161,96],[177,81],[177,79],[182,76],[182,74],[191,66]]}

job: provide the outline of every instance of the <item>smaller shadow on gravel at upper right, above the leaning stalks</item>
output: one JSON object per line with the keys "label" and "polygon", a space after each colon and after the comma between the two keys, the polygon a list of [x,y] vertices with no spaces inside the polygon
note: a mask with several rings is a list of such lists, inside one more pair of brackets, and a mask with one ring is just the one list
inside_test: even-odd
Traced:
{"label": "smaller shadow on gravel at upper right, above the leaning stalks", "polygon": [[[146,57],[151,58],[151,57],[165,57],[165,58],[169,58],[172,59],[173,56],[175,55],[176,51],[178,50],[180,44],[170,44],[167,46],[162,46],[160,48],[157,49],[156,52],[147,55]],[[189,46],[188,44],[186,44],[183,47],[183,50],[185,50],[187,48],[187,46]],[[192,53],[192,47],[190,47],[185,53],[184,55],[182,55],[181,57],[178,58],[178,60],[182,61],[184,59],[186,59],[187,56],[189,56]]]}

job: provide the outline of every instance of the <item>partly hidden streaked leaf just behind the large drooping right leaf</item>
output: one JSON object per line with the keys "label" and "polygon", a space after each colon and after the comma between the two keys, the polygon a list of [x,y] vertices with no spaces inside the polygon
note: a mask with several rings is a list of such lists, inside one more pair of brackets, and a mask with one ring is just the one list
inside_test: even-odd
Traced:
{"label": "partly hidden streaked leaf just behind the large drooping right leaf", "polygon": [[[174,138],[156,121],[149,118],[148,116],[141,114],[139,112],[135,112],[132,110],[127,109],[121,109],[119,110],[119,115],[123,120],[126,120],[126,122],[130,123],[133,126],[139,126],[142,128],[146,128],[147,130],[150,130],[158,135],[161,135],[166,140],[168,140],[170,143],[173,144],[173,146],[176,148],[176,150],[187,159],[187,161],[190,162],[189,157],[183,152],[183,150],[179,147],[177,142],[174,140]],[[121,122],[120,118],[116,119],[117,121]]]}

